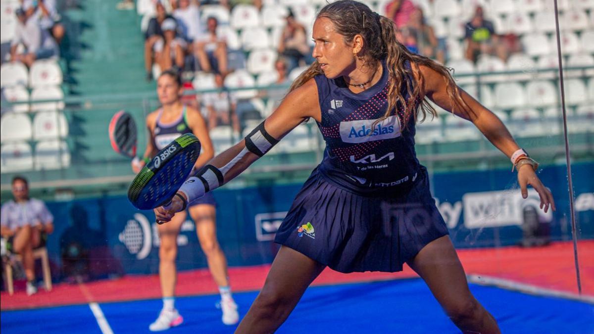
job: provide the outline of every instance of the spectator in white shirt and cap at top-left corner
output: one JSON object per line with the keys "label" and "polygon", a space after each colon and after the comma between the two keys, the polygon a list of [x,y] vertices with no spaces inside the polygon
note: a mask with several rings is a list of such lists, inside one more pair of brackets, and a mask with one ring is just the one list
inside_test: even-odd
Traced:
{"label": "spectator in white shirt and cap at top-left corner", "polygon": [[[10,48],[11,61],[20,61],[27,67],[30,67],[36,59],[59,55],[58,45],[47,30],[39,27],[34,12],[35,7],[31,0],[23,1],[23,6],[15,11],[18,21]],[[21,54],[17,53],[17,47],[20,44],[25,48],[25,52]]]}

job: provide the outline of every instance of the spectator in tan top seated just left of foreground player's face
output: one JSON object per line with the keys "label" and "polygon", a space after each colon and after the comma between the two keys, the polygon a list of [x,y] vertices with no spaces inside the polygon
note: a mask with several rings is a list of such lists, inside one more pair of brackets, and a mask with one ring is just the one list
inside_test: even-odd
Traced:
{"label": "spectator in tan top seated just left of foreground player's face", "polygon": [[300,65],[311,63],[307,33],[305,27],[295,20],[295,14],[289,10],[286,17],[287,24],[280,34],[279,55],[289,62],[289,72]]}

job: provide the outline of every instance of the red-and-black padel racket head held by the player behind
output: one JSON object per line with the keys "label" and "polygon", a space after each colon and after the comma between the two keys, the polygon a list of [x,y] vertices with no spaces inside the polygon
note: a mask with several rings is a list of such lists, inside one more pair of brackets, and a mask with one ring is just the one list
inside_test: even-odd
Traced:
{"label": "red-and-black padel racket head held by the player behind", "polygon": [[136,123],[130,114],[122,110],[113,115],[109,122],[109,140],[115,152],[127,157],[136,155]]}

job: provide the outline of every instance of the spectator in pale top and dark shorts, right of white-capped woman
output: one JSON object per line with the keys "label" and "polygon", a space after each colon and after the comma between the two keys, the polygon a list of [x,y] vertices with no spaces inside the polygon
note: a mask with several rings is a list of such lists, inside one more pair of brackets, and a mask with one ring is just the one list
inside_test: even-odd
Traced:
{"label": "spectator in pale top and dark shorts, right of white-capped woman", "polygon": [[206,34],[194,43],[195,56],[200,62],[201,70],[221,74],[223,78],[229,74],[227,42],[217,34],[219,21],[216,17],[206,20]]}

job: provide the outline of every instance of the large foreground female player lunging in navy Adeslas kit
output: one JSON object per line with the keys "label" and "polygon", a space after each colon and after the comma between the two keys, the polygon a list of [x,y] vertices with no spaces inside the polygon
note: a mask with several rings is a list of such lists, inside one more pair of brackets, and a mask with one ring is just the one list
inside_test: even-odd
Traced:
{"label": "large foreground female player lunging in navy Adeslas kit", "polygon": [[326,266],[345,273],[396,272],[406,262],[463,332],[500,332],[470,293],[429,193],[426,169],[415,156],[415,122],[436,115],[428,100],[472,121],[513,160],[523,196],[532,185],[546,212],[554,201],[536,177],[538,165],[497,116],[458,89],[446,68],[407,51],[396,41],[393,22],[366,5],[326,5],[313,37],[317,61],[279,108],[182,185],[181,197],[156,209],[157,219],[170,219],[183,207],[182,198],[194,200],[236,177],[292,128],[314,118],[326,140],[324,159],[280,226],[275,241],[282,247],[237,331],[274,332]]}

